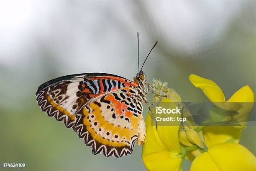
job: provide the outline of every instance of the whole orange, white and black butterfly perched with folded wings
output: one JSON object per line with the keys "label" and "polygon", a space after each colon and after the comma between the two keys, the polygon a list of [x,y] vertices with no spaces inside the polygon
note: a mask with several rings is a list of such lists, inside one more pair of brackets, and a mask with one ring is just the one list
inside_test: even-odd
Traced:
{"label": "whole orange, white and black butterfly perched with folded wings", "polygon": [[131,154],[136,141],[141,145],[146,136],[142,103],[150,107],[142,67],[134,81],[105,73],[52,79],[38,87],[36,101],[48,116],[77,132],[93,154],[119,158]]}

